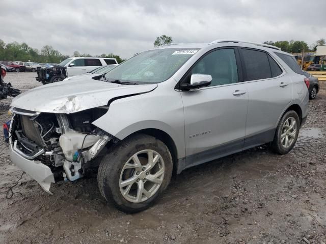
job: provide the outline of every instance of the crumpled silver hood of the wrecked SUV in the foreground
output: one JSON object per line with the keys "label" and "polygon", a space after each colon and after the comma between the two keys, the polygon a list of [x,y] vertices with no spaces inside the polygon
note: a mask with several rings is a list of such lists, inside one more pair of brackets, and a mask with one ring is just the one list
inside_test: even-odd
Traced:
{"label": "crumpled silver hood of the wrecked SUV in the foreground", "polygon": [[34,112],[74,113],[107,105],[115,97],[147,93],[157,84],[121,85],[93,80],[60,81],[42,85],[17,96],[11,106]]}

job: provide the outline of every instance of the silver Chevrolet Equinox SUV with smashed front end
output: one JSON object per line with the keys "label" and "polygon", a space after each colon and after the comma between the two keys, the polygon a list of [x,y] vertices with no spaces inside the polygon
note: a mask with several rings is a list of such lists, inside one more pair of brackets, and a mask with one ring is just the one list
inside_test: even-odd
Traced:
{"label": "silver Chevrolet Equinox SUV with smashed front end", "polygon": [[292,55],[235,40],[166,45],[12,102],[11,159],[43,189],[98,167],[101,195],[148,208],[172,173],[257,145],[294,146],[309,80]]}

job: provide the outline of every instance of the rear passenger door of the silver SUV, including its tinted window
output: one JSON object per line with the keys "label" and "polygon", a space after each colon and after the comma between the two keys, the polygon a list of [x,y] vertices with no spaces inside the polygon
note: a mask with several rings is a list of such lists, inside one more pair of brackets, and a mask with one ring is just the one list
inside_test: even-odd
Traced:
{"label": "rear passenger door of the silver SUV, including its tinted window", "polygon": [[289,75],[268,52],[240,48],[243,85],[249,92],[244,149],[272,141],[278,119],[292,100]]}

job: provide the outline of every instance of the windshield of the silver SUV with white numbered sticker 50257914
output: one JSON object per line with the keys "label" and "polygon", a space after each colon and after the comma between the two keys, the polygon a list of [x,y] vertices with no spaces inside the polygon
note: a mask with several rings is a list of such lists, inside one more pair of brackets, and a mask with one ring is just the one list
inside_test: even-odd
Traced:
{"label": "windshield of the silver SUV with white numbered sticker 50257914", "polygon": [[159,83],[169,79],[198,48],[166,48],[140,53],[107,72],[107,80]]}

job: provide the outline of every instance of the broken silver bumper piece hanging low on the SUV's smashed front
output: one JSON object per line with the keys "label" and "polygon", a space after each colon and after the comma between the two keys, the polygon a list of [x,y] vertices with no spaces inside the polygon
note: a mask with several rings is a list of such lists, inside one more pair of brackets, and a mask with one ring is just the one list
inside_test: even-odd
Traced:
{"label": "broken silver bumper piece hanging low on the SUV's smashed front", "polygon": [[14,164],[35,179],[47,193],[52,194],[49,190],[51,183],[55,183],[55,177],[49,167],[42,164],[41,161],[29,160],[21,156],[21,152],[18,151],[15,143],[13,145],[11,140],[10,158]]}

